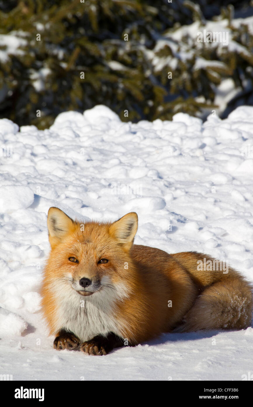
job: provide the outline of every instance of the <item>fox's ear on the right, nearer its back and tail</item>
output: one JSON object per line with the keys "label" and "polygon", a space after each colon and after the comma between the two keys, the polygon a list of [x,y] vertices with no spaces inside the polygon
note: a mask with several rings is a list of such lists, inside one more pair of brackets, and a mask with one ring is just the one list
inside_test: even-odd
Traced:
{"label": "fox's ear on the right, nearer its back and tail", "polygon": [[134,236],[138,228],[138,216],[135,212],[130,212],[112,223],[109,229],[111,236],[114,236],[125,249],[130,250],[134,241]]}

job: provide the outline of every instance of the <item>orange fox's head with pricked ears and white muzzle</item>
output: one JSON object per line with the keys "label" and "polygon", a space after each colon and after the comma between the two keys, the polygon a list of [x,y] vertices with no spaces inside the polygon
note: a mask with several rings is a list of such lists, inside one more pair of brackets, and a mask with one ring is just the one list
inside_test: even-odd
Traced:
{"label": "orange fox's head with pricked ears and white muzzle", "polygon": [[96,297],[103,291],[124,296],[131,287],[129,253],[137,228],[135,212],[113,223],[81,223],[58,208],[50,208],[48,232],[52,250],[46,269],[50,280],[61,281],[61,286],[85,297]]}

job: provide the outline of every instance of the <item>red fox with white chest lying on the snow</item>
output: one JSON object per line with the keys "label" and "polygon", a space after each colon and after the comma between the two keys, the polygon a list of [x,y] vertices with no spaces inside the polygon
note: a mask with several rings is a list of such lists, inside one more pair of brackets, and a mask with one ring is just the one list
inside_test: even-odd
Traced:
{"label": "red fox with white chest lying on the snow", "polygon": [[221,262],[205,254],[133,245],[137,227],[135,212],[80,223],[49,209],[41,294],[55,349],[104,355],[165,332],[250,326],[252,287],[244,277],[216,270]]}

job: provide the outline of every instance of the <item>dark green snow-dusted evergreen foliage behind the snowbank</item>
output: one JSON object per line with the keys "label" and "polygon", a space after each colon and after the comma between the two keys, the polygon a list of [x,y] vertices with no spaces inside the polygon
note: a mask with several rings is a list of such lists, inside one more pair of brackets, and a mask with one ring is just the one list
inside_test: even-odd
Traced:
{"label": "dark green snow-dusted evergreen foliage behind the snowbank", "polygon": [[[242,92],[225,114],[237,104],[252,104],[253,36],[247,25],[231,21],[234,9],[243,17],[249,6],[219,3],[0,0],[0,117],[45,128],[63,111],[83,112],[97,104],[107,105],[124,121],[171,119],[177,112],[203,116],[214,108],[216,86],[226,78]],[[227,18],[241,48],[197,43],[207,18]],[[199,26],[196,38],[186,34],[176,41],[175,30],[193,22]],[[1,35],[15,35],[24,44],[13,51],[12,37],[3,40]],[[166,41],[158,47],[161,39]],[[1,58],[2,50],[8,59]],[[210,63],[195,69],[199,58]],[[35,80],[40,78],[39,85]]]}

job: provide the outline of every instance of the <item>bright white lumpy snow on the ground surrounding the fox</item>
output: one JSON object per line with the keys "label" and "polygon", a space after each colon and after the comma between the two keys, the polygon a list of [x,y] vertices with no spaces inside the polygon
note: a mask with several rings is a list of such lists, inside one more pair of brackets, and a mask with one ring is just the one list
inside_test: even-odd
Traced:
{"label": "bright white lumpy snow on the ground surrounding the fox", "polygon": [[[253,281],[253,107],[225,120],[178,113],[123,123],[108,107],[58,115],[50,129],[0,120],[0,374],[13,380],[242,380],[253,327],[163,334],[105,357],[57,352],[40,309],[47,212],[116,220],[135,243],[199,251]],[[8,154],[6,154],[8,152]]]}

